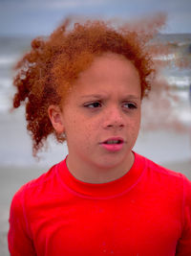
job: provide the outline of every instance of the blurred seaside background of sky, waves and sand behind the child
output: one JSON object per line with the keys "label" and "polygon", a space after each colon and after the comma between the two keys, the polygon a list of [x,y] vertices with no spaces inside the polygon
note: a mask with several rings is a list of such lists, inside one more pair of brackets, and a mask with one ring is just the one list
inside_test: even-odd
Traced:
{"label": "blurred seaside background of sky, waves and sand behind the child", "polygon": [[[12,196],[67,154],[65,145],[50,138],[48,148],[39,153],[40,160],[33,159],[24,109],[10,111],[13,65],[30,49],[33,37],[50,35],[69,14],[131,21],[157,12],[167,14],[158,40],[171,52],[158,58],[170,63],[162,70],[169,90],[154,92],[143,102],[142,128],[134,150],[191,178],[190,0],[0,0],[0,256],[9,255]],[[177,61],[184,63],[181,68]]]}

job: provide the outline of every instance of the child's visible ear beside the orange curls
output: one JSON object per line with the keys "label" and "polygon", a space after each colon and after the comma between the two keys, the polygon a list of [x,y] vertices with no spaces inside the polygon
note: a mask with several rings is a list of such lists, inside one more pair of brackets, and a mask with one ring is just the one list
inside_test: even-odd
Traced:
{"label": "child's visible ear beside the orange curls", "polygon": [[50,105],[48,108],[49,118],[55,131],[60,134],[64,132],[64,124],[62,118],[62,111],[58,105]]}

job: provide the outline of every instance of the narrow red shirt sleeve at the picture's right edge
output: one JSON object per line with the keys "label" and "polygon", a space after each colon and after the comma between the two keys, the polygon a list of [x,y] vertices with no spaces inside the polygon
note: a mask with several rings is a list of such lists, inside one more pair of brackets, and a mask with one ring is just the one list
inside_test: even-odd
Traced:
{"label": "narrow red shirt sleeve at the picture's right edge", "polygon": [[183,230],[177,246],[176,256],[191,255],[191,181],[184,177]]}

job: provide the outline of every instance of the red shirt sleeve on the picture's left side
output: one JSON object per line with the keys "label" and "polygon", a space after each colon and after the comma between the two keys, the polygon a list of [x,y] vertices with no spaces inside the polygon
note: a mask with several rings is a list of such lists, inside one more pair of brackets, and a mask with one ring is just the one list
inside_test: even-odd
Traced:
{"label": "red shirt sleeve on the picture's left side", "polygon": [[10,230],[8,233],[8,244],[11,256],[36,255],[27,228],[27,219],[24,212],[23,188],[12,198],[9,221]]}

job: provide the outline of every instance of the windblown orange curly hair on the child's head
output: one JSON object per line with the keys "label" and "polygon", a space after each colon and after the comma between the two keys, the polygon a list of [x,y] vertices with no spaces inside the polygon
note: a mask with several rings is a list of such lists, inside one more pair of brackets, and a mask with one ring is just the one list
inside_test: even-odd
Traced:
{"label": "windblown orange curly hair on the child's head", "polygon": [[127,27],[114,28],[104,21],[74,23],[66,19],[48,38],[32,40],[31,52],[16,65],[13,84],[16,93],[13,107],[26,105],[27,129],[32,135],[33,155],[54,134],[58,142],[65,138],[56,134],[48,116],[49,105],[60,105],[67,97],[80,72],[93,59],[106,52],[130,59],[138,69],[141,96],[150,90],[153,62],[145,53],[146,36]]}

